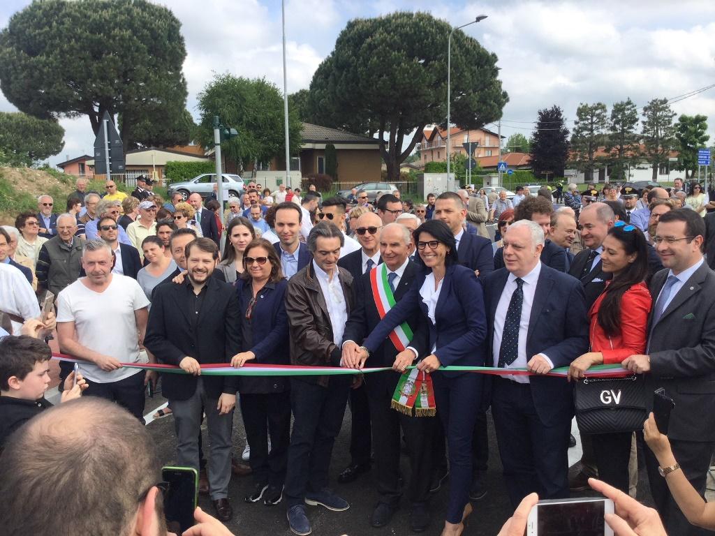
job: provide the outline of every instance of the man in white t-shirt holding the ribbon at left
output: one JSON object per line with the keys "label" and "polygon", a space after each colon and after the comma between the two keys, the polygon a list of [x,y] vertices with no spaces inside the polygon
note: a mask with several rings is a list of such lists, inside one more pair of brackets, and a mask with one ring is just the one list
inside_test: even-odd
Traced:
{"label": "man in white t-shirt holding the ribbon at left", "polygon": [[79,372],[89,383],[85,395],[117,402],[142,420],[144,385],[155,372],[122,367],[137,363],[147,329],[149,300],[131,277],[112,274],[112,248],[89,240],[82,249],[87,277],[57,297],[57,334],[62,352],[81,359]]}

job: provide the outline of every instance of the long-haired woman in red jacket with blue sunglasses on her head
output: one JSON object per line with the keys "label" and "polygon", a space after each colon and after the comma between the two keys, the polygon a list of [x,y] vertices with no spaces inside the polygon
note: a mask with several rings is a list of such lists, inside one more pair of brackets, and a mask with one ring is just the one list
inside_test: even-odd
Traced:
{"label": "long-haired woman in red jacket with blue sunglasses on her head", "polygon": [[[651,294],[644,283],[648,273],[648,246],[640,229],[616,222],[603,240],[603,272],[611,281],[593,303],[591,352],[574,359],[568,379],[578,380],[594,364],[620,363],[646,350]],[[628,460],[631,457],[631,432],[596,434],[598,478],[628,493]]]}

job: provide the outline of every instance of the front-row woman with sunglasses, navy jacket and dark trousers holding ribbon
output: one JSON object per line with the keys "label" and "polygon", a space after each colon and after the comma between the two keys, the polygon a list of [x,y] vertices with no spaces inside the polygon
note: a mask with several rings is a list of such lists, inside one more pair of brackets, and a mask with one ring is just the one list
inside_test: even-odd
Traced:
{"label": "front-row woman with sunglasses, navy jacket and dark trousers holding ribbon", "polygon": [[[280,259],[271,243],[262,238],[252,240],[244,252],[245,270],[236,282],[242,313],[241,352],[231,359],[231,364],[236,368],[247,362],[290,364],[284,299],[288,282]],[[238,377],[254,484],[246,502],[263,500],[266,505],[277,505],[282,499],[290,443],[288,386],[285,376]]]}

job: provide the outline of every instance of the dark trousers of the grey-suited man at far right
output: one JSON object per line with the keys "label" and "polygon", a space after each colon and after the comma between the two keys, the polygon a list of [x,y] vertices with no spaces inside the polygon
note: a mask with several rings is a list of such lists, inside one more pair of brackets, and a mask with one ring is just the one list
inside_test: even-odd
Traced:
{"label": "dark trousers of the grey-suited man at far right", "polygon": [[[670,443],[673,455],[686,478],[701,497],[705,497],[707,472],[715,443],[679,440],[670,440]],[[666,480],[659,475],[658,460],[653,451],[646,448],[644,452],[646,453],[646,469],[651,484],[651,495],[656,503],[656,510],[661,515],[663,525],[666,527],[666,532],[674,536],[712,535],[713,532],[690,524],[671,495]]]}

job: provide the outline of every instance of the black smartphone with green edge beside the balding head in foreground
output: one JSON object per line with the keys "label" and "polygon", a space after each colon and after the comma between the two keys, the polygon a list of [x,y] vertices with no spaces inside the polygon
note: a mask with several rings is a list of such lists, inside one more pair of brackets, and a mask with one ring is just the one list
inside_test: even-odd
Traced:
{"label": "black smartphone with green edge beside the balding head in foreground", "polygon": [[182,534],[194,526],[194,510],[199,497],[199,473],[193,467],[162,467],[164,517],[170,532]]}

